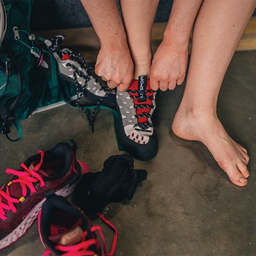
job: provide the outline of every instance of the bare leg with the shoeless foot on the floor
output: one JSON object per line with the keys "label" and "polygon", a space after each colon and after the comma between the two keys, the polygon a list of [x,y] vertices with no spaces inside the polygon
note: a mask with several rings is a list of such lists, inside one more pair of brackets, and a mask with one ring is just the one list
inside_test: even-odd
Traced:
{"label": "bare leg with the shoeless foot on the floor", "polygon": [[204,143],[237,186],[247,184],[249,157],[221,125],[216,104],[255,4],[255,0],[204,1],[195,23],[186,90],[172,125],[177,136]]}

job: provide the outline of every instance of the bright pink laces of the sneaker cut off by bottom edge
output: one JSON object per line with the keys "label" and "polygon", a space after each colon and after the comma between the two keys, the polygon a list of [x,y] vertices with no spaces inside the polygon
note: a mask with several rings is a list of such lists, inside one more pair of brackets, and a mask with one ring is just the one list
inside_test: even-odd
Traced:
{"label": "bright pink laces of the sneaker cut off by bottom edge", "polygon": [[[93,226],[91,228],[91,232],[96,232],[96,231],[99,232],[100,238],[102,239],[103,248],[102,248],[101,255],[108,256],[109,254],[106,252],[107,251],[106,241],[104,239],[104,236],[99,226]],[[86,240],[87,237],[88,237],[88,232],[84,231],[81,243],[71,245],[71,246],[56,245],[55,249],[58,250],[58,252],[63,252],[63,254],[61,254],[62,256],[89,256],[89,255],[96,256],[97,253],[95,253],[92,250],[92,246],[95,246],[95,248],[99,250],[100,248],[99,240],[96,238],[91,238]],[[51,250],[46,250],[42,256],[50,256],[50,255],[52,255]]]}

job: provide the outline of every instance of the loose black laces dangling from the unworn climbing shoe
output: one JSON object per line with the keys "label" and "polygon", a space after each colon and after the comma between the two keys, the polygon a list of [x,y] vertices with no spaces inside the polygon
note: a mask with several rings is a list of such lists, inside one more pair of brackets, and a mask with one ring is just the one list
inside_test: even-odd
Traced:
{"label": "loose black laces dangling from the unworn climbing shoe", "polygon": [[[91,79],[93,68],[88,67],[88,65],[86,64],[86,61],[84,60],[84,57],[82,56],[82,54],[80,54],[78,52],[72,52],[70,54],[70,58],[72,58],[72,60],[74,60],[74,61],[77,61],[77,63],[79,63],[79,65],[80,65],[80,67],[77,68],[76,66],[72,65],[71,63],[66,64],[67,67],[71,67],[73,69],[73,79],[75,81],[76,94],[77,94],[76,106],[81,111],[83,111],[84,115],[88,119],[89,125],[92,127],[92,132],[94,132],[94,124],[95,124],[97,111],[100,107],[100,104],[102,103],[102,100],[104,100],[106,97],[108,97],[111,89],[110,88],[105,88],[100,84],[100,86],[101,86],[100,90],[104,90],[104,92],[106,92],[104,97],[100,97],[100,99],[97,102],[97,104],[95,105],[92,113],[90,113],[88,111],[88,109],[83,108],[83,106],[80,103],[80,100],[83,97],[83,95],[86,95],[86,86],[87,86],[88,82]],[[84,75],[83,72],[81,72],[80,69],[84,69],[86,71],[86,75]],[[84,79],[84,84],[83,85],[78,83],[77,75]],[[95,79],[95,83],[98,83],[98,79]]]}

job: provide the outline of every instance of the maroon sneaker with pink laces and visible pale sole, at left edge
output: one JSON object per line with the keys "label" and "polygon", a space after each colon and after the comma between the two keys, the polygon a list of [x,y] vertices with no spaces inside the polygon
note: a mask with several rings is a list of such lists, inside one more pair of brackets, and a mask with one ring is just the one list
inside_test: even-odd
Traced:
{"label": "maroon sneaker with pink laces and visible pale sole, at left edge", "polygon": [[0,189],[0,250],[24,235],[48,193],[68,196],[88,166],[76,159],[76,145],[59,143],[20,164]]}

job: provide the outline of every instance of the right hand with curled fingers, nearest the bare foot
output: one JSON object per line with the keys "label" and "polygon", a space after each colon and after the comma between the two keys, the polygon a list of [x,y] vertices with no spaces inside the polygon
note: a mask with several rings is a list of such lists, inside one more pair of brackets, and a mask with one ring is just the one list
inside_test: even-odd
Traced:
{"label": "right hand with curled fingers, nearest the bare foot", "polygon": [[153,90],[173,90],[181,85],[186,76],[188,46],[174,46],[163,40],[159,45],[150,68],[150,85]]}

